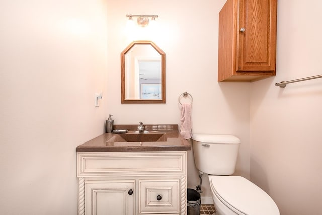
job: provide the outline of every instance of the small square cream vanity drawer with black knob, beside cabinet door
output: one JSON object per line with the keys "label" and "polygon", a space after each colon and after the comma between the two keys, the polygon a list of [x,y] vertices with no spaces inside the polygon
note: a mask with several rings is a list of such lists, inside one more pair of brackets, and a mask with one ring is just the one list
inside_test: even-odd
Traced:
{"label": "small square cream vanity drawer with black knob, beside cabinet door", "polygon": [[140,214],[178,214],[180,179],[139,180]]}

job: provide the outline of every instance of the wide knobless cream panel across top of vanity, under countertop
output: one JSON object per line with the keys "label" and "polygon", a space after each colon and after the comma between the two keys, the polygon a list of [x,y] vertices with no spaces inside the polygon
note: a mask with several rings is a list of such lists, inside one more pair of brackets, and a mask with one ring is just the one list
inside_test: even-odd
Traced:
{"label": "wide knobless cream panel across top of vanity, under countertop", "polygon": [[77,177],[186,175],[186,152],[78,152]]}

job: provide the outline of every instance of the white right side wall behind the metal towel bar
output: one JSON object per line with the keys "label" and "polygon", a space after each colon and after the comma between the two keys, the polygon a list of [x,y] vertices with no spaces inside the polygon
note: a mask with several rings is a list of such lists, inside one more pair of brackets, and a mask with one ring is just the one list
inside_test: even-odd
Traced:
{"label": "white right side wall behind the metal towel bar", "polygon": [[251,180],[282,215],[322,214],[322,2],[278,1],[276,77],[251,86]]}

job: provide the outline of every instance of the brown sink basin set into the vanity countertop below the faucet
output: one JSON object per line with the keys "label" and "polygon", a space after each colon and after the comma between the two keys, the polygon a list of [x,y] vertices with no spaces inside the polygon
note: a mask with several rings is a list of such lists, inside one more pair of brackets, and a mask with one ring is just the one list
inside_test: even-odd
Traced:
{"label": "brown sink basin set into the vanity countertop below the faucet", "polygon": [[126,133],[119,134],[127,142],[156,142],[166,141],[164,133]]}

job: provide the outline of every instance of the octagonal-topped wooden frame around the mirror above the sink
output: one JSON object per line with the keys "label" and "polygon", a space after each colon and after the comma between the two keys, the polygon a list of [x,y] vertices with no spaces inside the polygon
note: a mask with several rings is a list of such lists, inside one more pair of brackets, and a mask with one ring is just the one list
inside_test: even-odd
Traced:
{"label": "octagonal-topped wooden frame around the mirror above the sink", "polygon": [[[161,55],[161,99],[126,99],[125,98],[125,54],[135,45],[151,45]],[[166,54],[152,41],[134,41],[121,53],[121,103],[166,103]]]}

